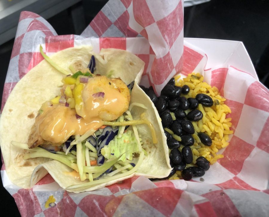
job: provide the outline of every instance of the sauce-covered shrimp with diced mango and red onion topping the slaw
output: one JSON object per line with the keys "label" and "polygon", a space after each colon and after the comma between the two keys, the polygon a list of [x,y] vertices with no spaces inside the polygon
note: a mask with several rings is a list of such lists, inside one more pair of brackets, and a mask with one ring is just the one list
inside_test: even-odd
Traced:
{"label": "sauce-covered shrimp with diced mango and red onion topping the slaw", "polygon": [[121,79],[78,76],[71,85],[65,79],[62,95],[42,104],[28,138],[29,148],[60,146],[70,136],[96,131],[129,107],[130,92]]}

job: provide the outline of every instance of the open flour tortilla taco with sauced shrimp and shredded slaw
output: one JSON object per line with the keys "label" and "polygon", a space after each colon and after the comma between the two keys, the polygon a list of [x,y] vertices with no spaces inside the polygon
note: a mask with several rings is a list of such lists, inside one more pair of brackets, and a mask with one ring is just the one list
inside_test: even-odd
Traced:
{"label": "open flour tortilla taco with sauced shrimp and shredded slaw", "polygon": [[138,86],[142,60],[89,46],[41,53],[45,60],[16,84],[0,118],[10,181],[30,188],[50,173],[78,193],[132,176],[169,175],[161,119]]}

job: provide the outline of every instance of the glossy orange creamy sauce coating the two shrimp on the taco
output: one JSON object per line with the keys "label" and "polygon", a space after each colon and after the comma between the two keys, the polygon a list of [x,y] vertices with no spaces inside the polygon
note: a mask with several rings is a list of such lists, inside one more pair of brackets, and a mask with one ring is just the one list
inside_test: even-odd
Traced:
{"label": "glossy orange creamy sauce coating the two shrimp on the taco", "polygon": [[[119,87],[120,86],[120,87]],[[104,97],[93,94],[103,92]],[[97,76],[89,79],[82,90],[82,104],[76,109],[59,103],[41,107],[43,113],[36,117],[38,134],[46,141],[61,145],[72,135],[83,135],[90,129],[97,130],[104,121],[121,116],[129,107],[130,93],[120,79]],[[77,119],[76,114],[82,118]]]}

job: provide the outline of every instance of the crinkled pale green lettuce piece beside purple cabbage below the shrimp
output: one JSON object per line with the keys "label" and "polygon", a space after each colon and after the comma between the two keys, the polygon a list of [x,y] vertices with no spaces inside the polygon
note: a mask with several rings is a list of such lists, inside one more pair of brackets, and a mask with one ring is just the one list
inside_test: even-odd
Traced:
{"label": "crinkled pale green lettuce piece beside purple cabbage below the shrimp", "polygon": [[125,162],[126,159],[132,160],[133,154],[139,152],[138,144],[133,131],[123,133],[121,138],[115,137],[108,145],[101,149],[101,154],[106,158],[120,157]]}

